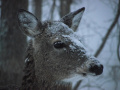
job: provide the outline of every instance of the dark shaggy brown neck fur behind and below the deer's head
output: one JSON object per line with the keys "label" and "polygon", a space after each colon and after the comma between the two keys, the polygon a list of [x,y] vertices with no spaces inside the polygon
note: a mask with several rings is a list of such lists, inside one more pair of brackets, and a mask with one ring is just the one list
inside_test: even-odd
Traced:
{"label": "dark shaggy brown neck fur behind and below the deer's head", "polygon": [[25,63],[24,77],[22,81],[22,86],[20,90],[71,90],[70,83],[48,83],[45,80],[41,79],[41,83],[38,85],[37,79],[35,76],[35,63],[33,58],[33,47],[32,41],[30,40],[29,46],[26,51],[26,58],[28,61]]}

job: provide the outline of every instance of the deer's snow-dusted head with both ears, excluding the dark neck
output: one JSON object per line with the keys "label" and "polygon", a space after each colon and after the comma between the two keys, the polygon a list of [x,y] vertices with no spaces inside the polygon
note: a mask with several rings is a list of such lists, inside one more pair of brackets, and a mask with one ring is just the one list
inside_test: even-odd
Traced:
{"label": "deer's snow-dusted head with both ears, excluding the dark neck", "polygon": [[[19,10],[21,30],[32,38],[35,75],[48,82],[67,82],[76,75],[100,75],[103,65],[87,54],[75,34],[85,8],[71,12],[59,21],[39,21],[32,13]],[[77,78],[78,80],[80,78]]]}

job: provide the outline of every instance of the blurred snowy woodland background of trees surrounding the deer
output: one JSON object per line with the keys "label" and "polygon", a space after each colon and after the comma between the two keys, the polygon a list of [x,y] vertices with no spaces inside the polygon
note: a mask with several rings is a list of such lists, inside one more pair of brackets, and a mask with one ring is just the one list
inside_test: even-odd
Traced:
{"label": "blurred snowy woodland background of trees surrounding the deer", "polygon": [[77,34],[104,72],[85,77],[78,90],[120,90],[120,0],[0,0],[0,87],[19,87],[23,76],[28,37],[18,27],[18,9],[52,21],[81,7]]}

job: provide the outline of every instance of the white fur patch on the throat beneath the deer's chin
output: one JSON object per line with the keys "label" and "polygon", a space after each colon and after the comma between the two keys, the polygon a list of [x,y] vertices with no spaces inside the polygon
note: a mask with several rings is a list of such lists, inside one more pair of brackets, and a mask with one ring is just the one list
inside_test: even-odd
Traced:
{"label": "white fur patch on the throat beneath the deer's chin", "polygon": [[84,76],[79,74],[73,74],[73,75],[70,75],[68,78],[63,79],[62,81],[72,83],[72,89],[74,89],[77,82],[83,79],[84,79]]}

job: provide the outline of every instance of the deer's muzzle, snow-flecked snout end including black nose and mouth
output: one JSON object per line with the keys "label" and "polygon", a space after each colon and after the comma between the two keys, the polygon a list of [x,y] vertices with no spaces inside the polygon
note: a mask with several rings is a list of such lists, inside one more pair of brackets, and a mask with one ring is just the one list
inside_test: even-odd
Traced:
{"label": "deer's muzzle, snow-flecked snout end including black nose and mouth", "polygon": [[101,75],[103,73],[103,65],[95,57],[92,57],[84,62],[81,67],[77,68],[76,71],[83,75]]}

